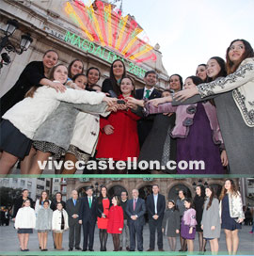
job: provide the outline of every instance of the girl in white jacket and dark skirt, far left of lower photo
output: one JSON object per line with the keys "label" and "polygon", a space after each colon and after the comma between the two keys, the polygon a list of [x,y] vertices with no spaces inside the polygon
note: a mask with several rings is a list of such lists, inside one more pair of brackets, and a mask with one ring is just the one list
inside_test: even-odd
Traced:
{"label": "girl in white jacket and dark skirt, far left of lower photo", "polygon": [[20,233],[21,251],[28,251],[29,233],[33,233],[36,226],[35,210],[30,207],[30,200],[24,200],[23,207],[19,209],[15,217],[14,226]]}

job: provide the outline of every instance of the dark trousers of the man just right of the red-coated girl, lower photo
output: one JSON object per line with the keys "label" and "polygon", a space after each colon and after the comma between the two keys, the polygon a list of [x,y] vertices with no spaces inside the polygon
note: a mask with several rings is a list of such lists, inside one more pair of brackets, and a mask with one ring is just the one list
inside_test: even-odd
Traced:
{"label": "dark trousers of the man just right of the red-coated girl, lower photo", "polygon": [[143,250],[143,225],[137,221],[133,221],[129,225],[130,230],[130,249],[135,250],[135,235],[137,241],[137,249]]}

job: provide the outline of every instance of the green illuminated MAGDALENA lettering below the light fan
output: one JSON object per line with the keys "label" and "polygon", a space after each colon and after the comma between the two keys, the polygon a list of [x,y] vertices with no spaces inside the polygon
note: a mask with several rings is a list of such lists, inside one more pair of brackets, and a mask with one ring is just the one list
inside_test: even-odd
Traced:
{"label": "green illuminated MAGDALENA lettering below the light fan", "polygon": [[71,45],[78,47],[82,51],[92,54],[94,56],[99,56],[100,58],[110,63],[112,63],[115,59],[119,58],[124,62],[127,72],[131,72],[141,78],[143,78],[145,72],[147,72],[146,70],[135,65],[135,63],[133,63],[132,61],[127,61],[125,58],[118,56],[115,52],[111,52],[93,41],[82,39],[79,36],[71,33],[70,31],[66,31],[64,40],[68,43],[71,43]]}

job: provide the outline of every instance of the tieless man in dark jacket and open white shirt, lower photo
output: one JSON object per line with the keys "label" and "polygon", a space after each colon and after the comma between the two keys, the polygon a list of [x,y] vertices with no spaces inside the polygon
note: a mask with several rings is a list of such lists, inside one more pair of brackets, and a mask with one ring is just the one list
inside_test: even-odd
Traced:
{"label": "tieless man in dark jacket and open white shirt, lower photo", "polygon": [[157,245],[160,251],[163,249],[163,233],[162,222],[166,208],[165,196],[159,194],[160,188],[158,184],[152,185],[152,195],[147,198],[147,209],[149,216],[150,230],[150,248],[148,251],[153,251],[155,248],[155,232],[157,230]]}

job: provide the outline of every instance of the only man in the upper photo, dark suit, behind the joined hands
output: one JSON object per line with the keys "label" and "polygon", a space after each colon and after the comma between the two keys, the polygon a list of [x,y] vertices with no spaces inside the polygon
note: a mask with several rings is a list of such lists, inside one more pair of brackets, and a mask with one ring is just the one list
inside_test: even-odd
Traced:
{"label": "only man in the upper photo, dark suit, behind the joined hands", "polygon": [[[158,91],[154,86],[157,83],[158,75],[155,71],[149,71],[145,73],[144,81],[146,83],[145,88],[139,88],[135,90],[135,98],[138,100],[142,99],[155,99],[161,97],[161,92]],[[151,132],[151,127],[154,117],[142,117],[137,121],[137,133],[139,139],[139,146],[142,147],[146,137]]]}

